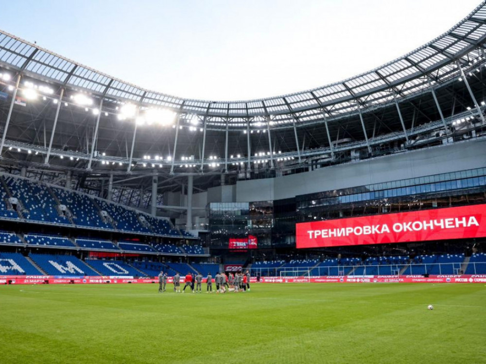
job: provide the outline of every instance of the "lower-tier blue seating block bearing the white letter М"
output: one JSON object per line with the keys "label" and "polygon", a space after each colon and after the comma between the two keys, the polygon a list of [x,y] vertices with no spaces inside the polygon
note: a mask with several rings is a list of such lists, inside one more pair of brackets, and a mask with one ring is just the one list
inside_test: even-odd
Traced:
{"label": "lower-tier blue seating block bearing the white letter \u041c", "polygon": [[30,254],[30,258],[48,275],[97,276],[93,269],[72,255]]}

